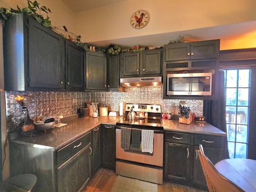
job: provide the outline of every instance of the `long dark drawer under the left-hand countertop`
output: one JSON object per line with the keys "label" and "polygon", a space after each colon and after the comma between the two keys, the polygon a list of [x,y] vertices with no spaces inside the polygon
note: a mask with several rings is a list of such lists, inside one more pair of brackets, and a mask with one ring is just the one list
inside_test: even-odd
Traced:
{"label": "long dark drawer under the left-hand countertop", "polygon": [[74,156],[91,142],[91,132],[64,146],[56,152],[57,166]]}

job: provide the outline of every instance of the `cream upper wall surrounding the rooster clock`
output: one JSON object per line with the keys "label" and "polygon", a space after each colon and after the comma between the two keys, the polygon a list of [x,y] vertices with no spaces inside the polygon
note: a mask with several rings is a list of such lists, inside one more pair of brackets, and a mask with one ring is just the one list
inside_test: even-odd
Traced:
{"label": "cream upper wall surrounding the rooster clock", "polygon": [[[255,0],[127,0],[75,13],[74,30],[82,42],[162,34],[253,21],[255,7]],[[140,9],[149,13],[150,20],[137,30],[130,18]]]}

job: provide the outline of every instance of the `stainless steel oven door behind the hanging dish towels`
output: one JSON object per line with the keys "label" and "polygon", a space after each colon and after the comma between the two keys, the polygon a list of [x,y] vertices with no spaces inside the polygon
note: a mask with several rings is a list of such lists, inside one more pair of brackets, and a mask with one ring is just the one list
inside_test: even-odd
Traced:
{"label": "stainless steel oven door behind the hanging dish towels", "polygon": [[154,130],[153,154],[133,153],[121,148],[121,129],[116,129],[116,158],[130,162],[138,162],[154,166],[163,166],[164,134],[161,130]]}

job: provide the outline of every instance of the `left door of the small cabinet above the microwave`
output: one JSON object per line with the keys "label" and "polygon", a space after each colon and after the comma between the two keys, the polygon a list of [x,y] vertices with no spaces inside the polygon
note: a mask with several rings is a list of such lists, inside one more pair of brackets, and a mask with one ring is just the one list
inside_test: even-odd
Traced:
{"label": "left door of the small cabinet above the microwave", "polygon": [[165,61],[179,61],[190,59],[190,44],[177,43],[165,46]]}

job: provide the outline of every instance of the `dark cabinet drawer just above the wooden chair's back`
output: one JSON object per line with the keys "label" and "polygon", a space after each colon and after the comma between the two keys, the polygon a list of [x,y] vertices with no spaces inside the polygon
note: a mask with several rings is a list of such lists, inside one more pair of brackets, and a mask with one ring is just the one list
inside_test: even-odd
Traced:
{"label": "dark cabinet drawer just above the wooden chair's back", "polygon": [[195,135],[195,145],[202,144],[203,147],[222,148],[222,137]]}

